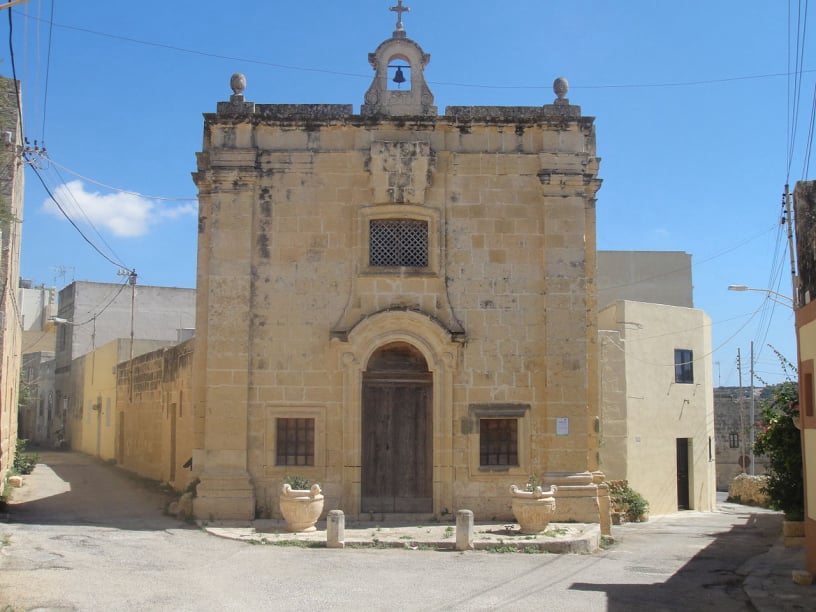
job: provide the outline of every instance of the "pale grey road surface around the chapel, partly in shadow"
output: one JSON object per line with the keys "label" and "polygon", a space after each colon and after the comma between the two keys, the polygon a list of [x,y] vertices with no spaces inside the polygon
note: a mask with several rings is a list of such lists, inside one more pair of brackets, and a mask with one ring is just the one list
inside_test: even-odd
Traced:
{"label": "pale grey road surface around the chapel, partly in shadow", "polygon": [[451,540],[447,525],[346,526],[347,542],[400,549],[293,545],[268,522],[214,537],[164,516],[151,483],[67,452],[43,453],[16,493],[0,522],[0,610],[816,610],[816,587],[791,581],[803,553],[781,546],[780,515],[734,504],[556,555],[411,544],[429,529]]}

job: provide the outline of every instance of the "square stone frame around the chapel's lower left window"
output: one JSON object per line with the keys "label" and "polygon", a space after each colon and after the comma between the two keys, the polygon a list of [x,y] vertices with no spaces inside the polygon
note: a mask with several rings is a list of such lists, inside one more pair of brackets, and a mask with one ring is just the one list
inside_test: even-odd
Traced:
{"label": "square stone frame around the chapel's lower left window", "polygon": [[[277,463],[278,419],[313,419],[314,449],[313,465],[279,465]],[[268,405],[266,410],[265,465],[266,475],[284,478],[304,476],[309,479],[322,478],[326,466],[326,410],[324,406]]]}

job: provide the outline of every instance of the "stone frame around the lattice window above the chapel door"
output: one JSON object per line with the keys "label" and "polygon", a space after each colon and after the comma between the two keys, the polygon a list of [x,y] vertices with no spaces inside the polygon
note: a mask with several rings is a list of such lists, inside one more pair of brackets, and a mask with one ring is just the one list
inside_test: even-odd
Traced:
{"label": "stone frame around the lattice window above the chapel door", "polygon": [[[428,265],[372,266],[369,228],[371,221],[385,220],[424,221],[428,226]],[[359,214],[358,245],[360,273],[367,276],[418,275],[438,276],[440,265],[440,216],[439,212],[412,204],[387,204],[362,208]]]}

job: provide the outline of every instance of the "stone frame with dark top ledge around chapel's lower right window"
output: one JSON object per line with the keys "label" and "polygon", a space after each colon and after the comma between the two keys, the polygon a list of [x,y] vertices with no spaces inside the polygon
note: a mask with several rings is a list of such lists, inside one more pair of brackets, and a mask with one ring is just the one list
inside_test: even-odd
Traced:
{"label": "stone frame with dark top ledge around chapel's lower right window", "polygon": [[[471,434],[470,468],[471,475],[478,477],[530,474],[530,412],[527,403],[488,403],[468,405],[468,418],[463,423],[463,433]],[[517,465],[482,465],[481,463],[481,421],[483,419],[516,419]]]}

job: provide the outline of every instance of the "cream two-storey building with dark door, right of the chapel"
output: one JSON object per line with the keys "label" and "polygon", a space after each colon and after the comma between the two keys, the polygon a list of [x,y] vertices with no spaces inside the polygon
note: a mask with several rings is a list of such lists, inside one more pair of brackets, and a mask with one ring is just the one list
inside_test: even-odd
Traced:
{"label": "cream two-storey building with dark door, right of the chapel", "polygon": [[652,514],[716,507],[711,320],[619,300],[598,315],[601,469]]}

